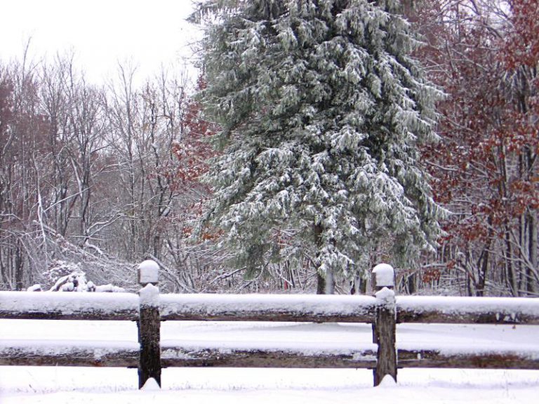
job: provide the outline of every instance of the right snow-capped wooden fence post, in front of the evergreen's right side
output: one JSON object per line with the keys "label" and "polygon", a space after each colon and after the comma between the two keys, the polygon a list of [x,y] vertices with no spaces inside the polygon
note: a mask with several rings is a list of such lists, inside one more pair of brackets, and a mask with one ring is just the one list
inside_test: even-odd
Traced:
{"label": "right snow-capped wooden fence post, in front of the evergreen's right side", "polygon": [[395,292],[394,269],[388,264],[378,264],[373,269],[375,297],[380,300],[373,323],[373,342],[378,344],[374,385],[378,386],[385,375],[397,382],[397,349],[395,346]]}

